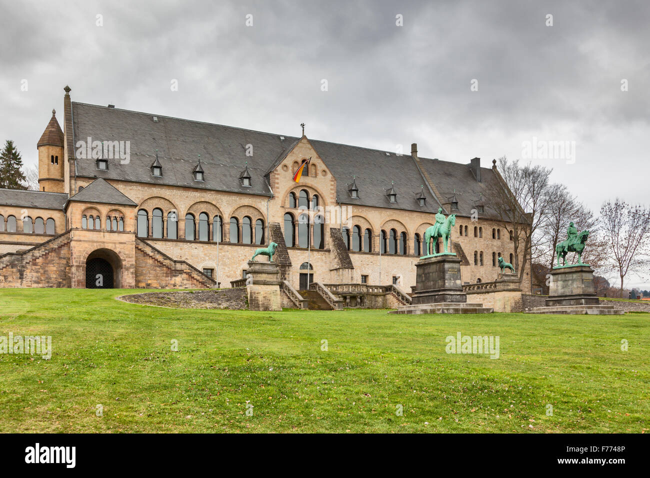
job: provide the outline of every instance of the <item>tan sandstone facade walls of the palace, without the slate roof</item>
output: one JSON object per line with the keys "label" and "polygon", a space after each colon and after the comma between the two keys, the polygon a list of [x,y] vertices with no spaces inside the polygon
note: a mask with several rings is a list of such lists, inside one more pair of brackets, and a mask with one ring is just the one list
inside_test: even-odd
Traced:
{"label": "tan sandstone facade walls of the palace, without the slate roof", "polygon": [[[248,259],[252,257],[255,248],[268,245],[271,239],[279,245],[276,258],[280,279],[287,280],[296,289],[301,285],[301,274],[307,272],[313,274],[314,281],[323,284],[399,284],[405,289],[415,285],[415,263],[420,256],[416,250],[415,238],[424,237],[424,230],[434,222],[433,215],[408,207],[396,209],[381,204],[360,206],[350,197],[341,197],[340,191],[337,193],[337,178],[328,167],[326,158],[320,156],[317,148],[305,136],[298,139],[265,176],[269,195],[179,187],[122,178],[106,181],[136,206],[75,201],[73,196],[89,187],[96,178],[75,174],[77,168],[72,143],[72,103],[69,92],[70,88],[66,88],[62,129],[64,136],[61,144],[40,144],[38,150],[40,189],[62,191],[70,196],[70,201],[60,210],[0,204],[0,214],[3,215],[0,263],[7,263],[5,267],[14,261],[11,267],[22,267],[23,276],[25,273],[29,276],[24,268],[27,264],[35,264],[35,259],[21,259],[21,262],[15,255],[7,256],[6,253],[27,250],[66,232],[68,251],[59,251],[57,254],[60,258],[68,258],[69,263],[65,267],[53,265],[58,271],[55,273],[58,277],[43,278],[40,285],[85,287],[86,264],[91,258],[100,258],[113,267],[116,287],[214,287],[216,282],[227,286],[231,280],[242,277],[242,271],[247,269]],[[49,131],[47,138],[55,138],[58,134],[58,123],[53,124],[56,121],[53,115],[46,130],[46,133]],[[45,142],[55,143],[57,140]],[[58,161],[53,163],[52,156],[58,157]],[[306,166],[300,182],[296,183],[292,174],[300,162],[308,157],[311,162]],[[408,161],[420,161],[415,153],[413,159],[406,158]],[[406,161],[391,156],[390,161],[398,160]],[[498,174],[496,166],[493,166],[493,171]],[[429,178],[424,174],[417,180],[428,181]],[[444,192],[435,185],[430,190],[439,195]],[[422,187],[422,191],[426,189]],[[305,210],[298,207],[298,204],[292,204],[292,195],[300,198],[301,194],[306,194],[310,203],[318,198],[318,207]],[[53,235],[23,233],[23,209],[27,209],[29,220],[32,221],[39,217],[44,220],[53,219]],[[17,232],[6,232],[9,215],[17,219]],[[285,242],[286,218],[292,217],[294,220],[292,235],[297,236],[301,227],[301,215],[309,218],[310,248],[298,241],[289,244]],[[91,216],[99,218],[99,229],[90,230],[87,227]],[[207,217],[207,221],[202,220],[203,217]],[[123,221],[120,223],[121,229],[109,228],[109,218],[120,218]],[[235,222],[231,226],[231,221],[235,219],[236,226]],[[318,219],[322,219],[322,246],[318,244],[317,238]],[[222,234],[215,241],[217,236],[214,230],[218,228],[219,220],[222,223]],[[250,243],[245,243],[249,241],[248,222]],[[258,223],[261,227],[256,227]],[[352,239],[350,244],[344,241],[342,230],[347,230],[352,235],[355,226],[358,226],[362,234],[368,231],[369,251],[351,250]],[[236,233],[233,228],[237,228]],[[186,230],[193,232],[194,238],[186,237]],[[391,251],[389,245],[386,245],[386,250],[380,254],[380,235],[385,233],[388,236],[393,232],[396,237],[402,237],[402,233],[406,237],[403,250]],[[206,233],[205,237],[200,237],[203,233]],[[513,263],[513,242],[509,235],[504,224],[497,220],[480,216],[478,220],[473,220],[469,214],[456,214],[450,250],[456,252],[461,259],[463,284],[495,280],[499,273],[496,265],[498,254]],[[231,238],[234,240],[231,241]],[[419,247],[422,250],[424,246]],[[49,246],[44,245],[43,250],[47,248]],[[19,266],[18,263],[23,265]],[[303,267],[311,269],[307,271]],[[203,271],[211,274],[214,280],[207,278]],[[521,288],[530,291],[530,263],[526,264],[526,271]],[[38,275],[36,272],[34,274]],[[2,280],[0,286],[39,285],[36,276],[25,282],[24,278],[12,278],[5,272]]]}

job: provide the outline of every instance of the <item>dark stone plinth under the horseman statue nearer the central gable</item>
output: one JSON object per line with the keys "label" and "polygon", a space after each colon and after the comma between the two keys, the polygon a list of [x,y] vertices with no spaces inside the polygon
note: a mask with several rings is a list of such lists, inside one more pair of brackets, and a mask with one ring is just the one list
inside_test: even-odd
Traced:
{"label": "dark stone plinth under the horseman statue nearer the central gable", "polygon": [[415,264],[413,305],[467,302],[460,280],[460,259],[444,255],[421,259]]}

